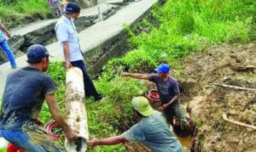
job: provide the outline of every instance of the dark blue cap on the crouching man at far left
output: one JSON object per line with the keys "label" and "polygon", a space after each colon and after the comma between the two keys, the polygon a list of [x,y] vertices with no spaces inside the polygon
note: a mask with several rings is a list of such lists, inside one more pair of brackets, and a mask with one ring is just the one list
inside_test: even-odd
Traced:
{"label": "dark blue cap on the crouching man at far left", "polygon": [[45,57],[49,57],[47,49],[41,44],[34,44],[27,48],[27,60],[30,64],[40,63]]}

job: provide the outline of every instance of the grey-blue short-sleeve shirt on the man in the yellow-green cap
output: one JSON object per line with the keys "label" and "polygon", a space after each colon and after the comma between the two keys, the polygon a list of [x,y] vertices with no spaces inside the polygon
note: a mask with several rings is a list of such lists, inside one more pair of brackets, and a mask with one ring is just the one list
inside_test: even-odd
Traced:
{"label": "grey-blue short-sleeve shirt on the man in the yellow-green cap", "polygon": [[143,117],[122,136],[130,142],[140,142],[155,152],[182,151],[180,143],[172,135],[164,117],[156,110],[152,115]]}

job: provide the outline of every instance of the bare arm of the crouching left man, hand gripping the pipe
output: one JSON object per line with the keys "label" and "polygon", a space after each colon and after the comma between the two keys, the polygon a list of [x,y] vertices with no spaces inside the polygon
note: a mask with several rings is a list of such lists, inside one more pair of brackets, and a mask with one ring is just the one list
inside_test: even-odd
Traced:
{"label": "bare arm of the crouching left man, hand gripping the pipe", "polygon": [[46,94],[45,95],[45,100],[48,104],[49,107],[49,112],[50,114],[53,116],[54,120],[57,121],[58,125],[60,125],[68,140],[74,140],[77,137],[77,132],[75,132],[73,129],[71,129],[68,125],[67,122],[64,120],[62,114],[61,114],[61,110],[55,100],[55,94]]}

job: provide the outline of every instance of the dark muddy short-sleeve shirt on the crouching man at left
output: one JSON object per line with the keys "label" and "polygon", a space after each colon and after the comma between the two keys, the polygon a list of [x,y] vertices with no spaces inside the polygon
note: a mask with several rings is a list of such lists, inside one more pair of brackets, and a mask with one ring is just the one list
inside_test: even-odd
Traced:
{"label": "dark muddy short-sleeve shirt on the crouching man at left", "polygon": [[25,67],[9,74],[0,110],[0,129],[20,131],[34,123],[46,94],[55,93],[55,82],[44,72]]}

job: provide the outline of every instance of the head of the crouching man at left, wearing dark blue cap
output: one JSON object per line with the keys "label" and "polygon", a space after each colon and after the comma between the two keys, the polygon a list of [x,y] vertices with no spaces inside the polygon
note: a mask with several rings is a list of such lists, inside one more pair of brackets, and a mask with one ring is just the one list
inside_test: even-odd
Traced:
{"label": "head of the crouching man at left, wearing dark blue cap", "polygon": [[49,53],[47,49],[41,44],[34,44],[27,49],[26,62],[30,65],[39,65],[43,71],[48,70]]}

